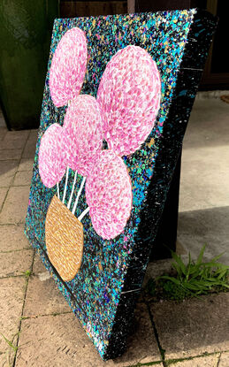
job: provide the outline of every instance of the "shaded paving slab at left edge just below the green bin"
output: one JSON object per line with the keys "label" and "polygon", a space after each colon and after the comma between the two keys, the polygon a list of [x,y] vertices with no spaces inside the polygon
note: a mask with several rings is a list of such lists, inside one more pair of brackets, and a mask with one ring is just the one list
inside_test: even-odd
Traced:
{"label": "shaded paving slab at left edge just below the green bin", "polygon": [[23,149],[29,130],[8,131],[4,135],[4,139],[0,141],[0,149]]}

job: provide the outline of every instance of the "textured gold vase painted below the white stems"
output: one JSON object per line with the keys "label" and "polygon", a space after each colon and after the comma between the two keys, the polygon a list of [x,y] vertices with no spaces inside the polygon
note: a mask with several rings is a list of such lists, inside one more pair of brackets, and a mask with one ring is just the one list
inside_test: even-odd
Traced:
{"label": "textured gold vase painted below the white stems", "polygon": [[51,264],[63,280],[72,280],[83,255],[83,225],[56,195],[46,216],[45,241]]}

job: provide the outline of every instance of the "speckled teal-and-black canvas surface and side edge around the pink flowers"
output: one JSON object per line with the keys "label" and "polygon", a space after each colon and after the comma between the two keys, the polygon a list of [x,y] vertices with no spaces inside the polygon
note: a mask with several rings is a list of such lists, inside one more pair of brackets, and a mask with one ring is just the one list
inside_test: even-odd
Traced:
{"label": "speckled teal-and-black canvas surface and side edge around the pink flowers", "polygon": [[[199,67],[203,65],[212,29],[215,27],[213,20],[211,26],[207,27],[209,16],[205,14],[197,17],[195,13],[195,10],[164,11],[155,14],[56,19],[54,23],[27,210],[26,233],[103,359],[118,356],[125,349],[134,302],[141,288],[149,258],[150,241],[156,234],[156,222],[163,210],[166,190],[176,164],[176,157],[179,155],[188,115],[200,80],[201,70],[179,72],[179,64],[187,44],[187,34],[195,23],[194,30],[188,34],[188,39],[191,40],[192,37],[192,42],[196,39],[202,41],[195,43],[194,47],[191,45],[187,48],[186,61],[182,62],[184,69],[185,66],[195,69],[198,62],[201,65]],[[202,18],[204,18],[203,26]],[[57,43],[72,27],[80,27],[88,40],[88,68],[81,93],[96,96],[103,71],[111,57],[128,44],[134,44],[147,50],[156,61],[162,82],[162,98],[156,126],[149,134],[149,138],[140,150],[130,157],[123,158],[133,187],[133,209],[124,232],[114,240],[103,241],[95,233],[90,217],[83,218],[84,253],[81,268],[72,281],[65,283],[59,278],[46,255],[45,218],[56,189],[42,185],[38,171],[38,150],[42,134],[48,126],[54,123],[63,126],[65,107],[57,109],[51,101],[49,70]],[[178,76],[179,83],[176,85]],[[173,105],[176,106],[175,109],[172,109]],[[183,111],[183,115],[180,111]],[[164,157],[164,151],[167,152],[167,157]],[[74,172],[70,170],[67,198],[71,194],[73,175]],[[78,188],[80,180],[78,176]],[[64,185],[65,177],[60,182],[61,195]],[[76,210],[77,217],[86,206],[83,190]],[[153,211],[149,215],[150,207],[153,207]],[[142,231],[146,225],[149,231],[145,229]]]}

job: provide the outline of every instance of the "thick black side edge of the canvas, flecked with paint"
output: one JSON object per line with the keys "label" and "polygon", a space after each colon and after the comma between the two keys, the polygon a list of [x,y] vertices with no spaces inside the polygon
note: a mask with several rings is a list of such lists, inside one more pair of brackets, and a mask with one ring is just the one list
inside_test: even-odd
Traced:
{"label": "thick black side edge of the canvas, flecked with paint", "polygon": [[[141,224],[135,237],[134,253],[128,264],[104,360],[121,356],[126,350],[126,339],[132,325],[135,304],[141,292],[150,251],[153,250],[153,241],[217,23],[218,19],[210,12],[196,10],[179,66],[172,104],[164,122],[163,137],[159,142],[161,153],[156,157],[155,173],[149,184],[146,205],[141,210]],[[176,126],[176,131],[173,126]],[[159,182],[162,181],[164,190],[160,188]]]}

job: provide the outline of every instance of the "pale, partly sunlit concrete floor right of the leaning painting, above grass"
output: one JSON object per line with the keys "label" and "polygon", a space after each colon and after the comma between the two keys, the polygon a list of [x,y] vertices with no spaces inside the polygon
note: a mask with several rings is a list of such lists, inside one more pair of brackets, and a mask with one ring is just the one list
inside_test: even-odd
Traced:
{"label": "pale, partly sunlit concrete floor right of the leaning painting, above grass", "polygon": [[[228,115],[229,104],[219,98],[196,98],[187,125],[182,151],[178,239],[195,255],[203,243],[210,245],[213,256],[228,245],[229,171],[225,169],[229,160]],[[224,257],[225,264],[228,261],[229,255]]]}

